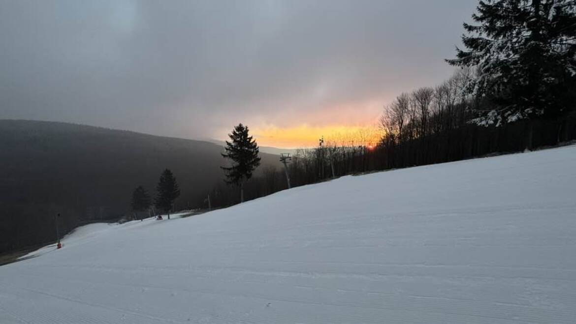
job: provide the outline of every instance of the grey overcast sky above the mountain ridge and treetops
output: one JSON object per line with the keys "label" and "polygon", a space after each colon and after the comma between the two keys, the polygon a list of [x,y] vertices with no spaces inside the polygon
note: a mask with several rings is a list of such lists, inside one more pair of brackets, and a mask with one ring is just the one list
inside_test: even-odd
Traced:
{"label": "grey overcast sky above the mountain ridge and treetops", "polygon": [[477,2],[0,0],[0,119],[218,139],[365,125],[452,73]]}

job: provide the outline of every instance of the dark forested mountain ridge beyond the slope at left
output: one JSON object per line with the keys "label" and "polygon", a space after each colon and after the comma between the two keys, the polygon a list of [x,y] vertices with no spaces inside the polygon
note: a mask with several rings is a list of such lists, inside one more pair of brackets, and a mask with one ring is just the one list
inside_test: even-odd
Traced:
{"label": "dark forested mountain ridge beyond the slope at left", "polygon": [[[117,218],[129,211],[135,186],[143,185],[155,195],[158,177],[166,168],[173,171],[182,192],[176,208],[202,207],[204,195],[223,181],[222,151],[222,146],[201,140],[51,121],[0,120],[0,210],[9,215],[0,220],[0,237],[9,237],[9,242],[0,240],[0,251],[54,237],[58,213],[63,227]],[[275,155],[260,157],[262,166],[256,174],[264,167],[279,166]]]}

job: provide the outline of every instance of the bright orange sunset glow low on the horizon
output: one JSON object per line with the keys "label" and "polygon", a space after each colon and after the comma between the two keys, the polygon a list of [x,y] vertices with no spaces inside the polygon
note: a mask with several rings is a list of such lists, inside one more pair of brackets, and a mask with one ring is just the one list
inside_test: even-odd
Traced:
{"label": "bright orange sunset glow low on the horizon", "polygon": [[361,125],[312,126],[302,124],[286,128],[254,127],[252,131],[260,146],[279,148],[314,147],[318,145],[318,140],[322,136],[327,144],[374,146],[381,136],[376,126]]}

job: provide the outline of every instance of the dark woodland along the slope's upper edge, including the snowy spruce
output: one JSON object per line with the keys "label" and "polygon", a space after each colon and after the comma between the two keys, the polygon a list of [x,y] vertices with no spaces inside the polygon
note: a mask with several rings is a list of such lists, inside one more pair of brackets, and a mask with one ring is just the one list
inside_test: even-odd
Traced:
{"label": "dark woodland along the slope's upper edge, including the snowy spruce", "polygon": [[[351,173],[533,150],[576,140],[576,1],[480,1],[464,23],[452,77],[384,106],[380,139],[324,137],[298,150],[294,186]],[[247,185],[250,197],[285,188],[283,171]],[[262,189],[264,188],[264,190]],[[217,204],[231,203],[223,186]]]}

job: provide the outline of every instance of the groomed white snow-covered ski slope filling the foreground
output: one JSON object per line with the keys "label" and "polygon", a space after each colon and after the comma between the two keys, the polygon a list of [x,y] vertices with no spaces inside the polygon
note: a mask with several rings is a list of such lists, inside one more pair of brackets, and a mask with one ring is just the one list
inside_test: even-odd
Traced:
{"label": "groomed white snow-covered ski slope filling the foreground", "polygon": [[576,146],[86,232],[0,267],[0,322],[576,321]]}

